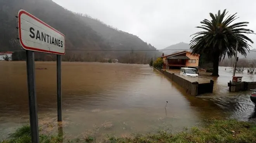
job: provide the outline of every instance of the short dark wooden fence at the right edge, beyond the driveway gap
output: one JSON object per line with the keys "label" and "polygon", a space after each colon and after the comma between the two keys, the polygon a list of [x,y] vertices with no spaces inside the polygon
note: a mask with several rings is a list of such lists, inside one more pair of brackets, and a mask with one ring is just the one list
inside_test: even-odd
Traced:
{"label": "short dark wooden fence at the right edge, beyond the driveway gap", "polygon": [[237,91],[247,91],[250,89],[256,89],[256,82],[229,82],[229,91],[230,92],[237,92]]}

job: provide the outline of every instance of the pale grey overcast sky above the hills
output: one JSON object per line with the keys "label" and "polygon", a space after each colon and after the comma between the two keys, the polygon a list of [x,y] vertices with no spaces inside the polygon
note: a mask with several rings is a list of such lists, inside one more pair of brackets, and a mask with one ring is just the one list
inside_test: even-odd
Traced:
{"label": "pale grey overcast sky above the hills", "polygon": [[[189,43],[209,12],[225,8],[238,13],[256,31],[256,0],[53,0],[73,12],[85,13],[107,25],[137,35],[157,49]],[[256,35],[249,36],[256,42]],[[253,44],[256,47],[256,44]]]}

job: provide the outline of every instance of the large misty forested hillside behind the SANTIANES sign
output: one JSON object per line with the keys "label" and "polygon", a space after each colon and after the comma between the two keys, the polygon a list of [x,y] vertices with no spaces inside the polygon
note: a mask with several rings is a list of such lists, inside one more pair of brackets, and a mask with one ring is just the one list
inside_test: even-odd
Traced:
{"label": "large misty forested hillside behind the SANTIANES sign", "polygon": [[[52,0],[0,0],[0,51],[21,51],[16,39],[15,17],[21,8],[65,35],[66,48],[71,50],[67,50],[62,57],[64,61],[102,61],[110,58],[124,63],[144,64],[150,58],[161,55],[158,51],[152,51],[155,48],[137,36],[114,29],[87,15],[73,13]],[[86,51],[88,49],[114,51]],[[139,49],[151,51],[137,51]],[[17,59],[24,59],[24,53],[16,53],[14,56]],[[36,60],[54,59],[54,55],[36,53]]]}

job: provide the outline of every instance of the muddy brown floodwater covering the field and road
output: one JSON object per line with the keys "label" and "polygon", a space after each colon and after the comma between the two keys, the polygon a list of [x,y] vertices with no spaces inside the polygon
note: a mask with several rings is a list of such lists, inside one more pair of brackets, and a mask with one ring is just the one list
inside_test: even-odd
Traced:
{"label": "muddy brown floodwater covering the field and road", "polygon": [[[57,122],[56,63],[36,62],[36,68],[47,68],[35,75],[38,117]],[[178,131],[211,118],[255,118],[249,92],[228,92],[231,76],[220,67],[214,93],[193,97],[148,65],[62,62],[63,130],[103,138]],[[0,138],[28,123],[28,113],[26,62],[0,62]]]}

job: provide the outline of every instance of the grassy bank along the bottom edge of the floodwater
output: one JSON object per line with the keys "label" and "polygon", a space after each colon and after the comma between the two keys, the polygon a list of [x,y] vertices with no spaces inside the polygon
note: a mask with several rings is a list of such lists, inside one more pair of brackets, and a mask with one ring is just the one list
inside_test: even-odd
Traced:
{"label": "grassy bank along the bottom edge of the floodwater", "polygon": [[[204,127],[194,126],[179,133],[161,130],[158,134],[136,135],[129,137],[106,137],[96,140],[93,136],[66,139],[65,134],[40,135],[40,143],[254,143],[256,142],[256,123],[236,120],[206,120]],[[30,143],[30,128],[22,126],[10,135],[9,140],[1,143]]]}

